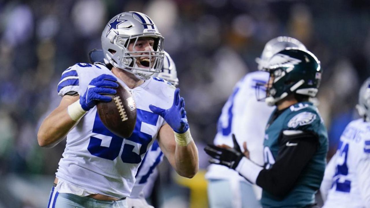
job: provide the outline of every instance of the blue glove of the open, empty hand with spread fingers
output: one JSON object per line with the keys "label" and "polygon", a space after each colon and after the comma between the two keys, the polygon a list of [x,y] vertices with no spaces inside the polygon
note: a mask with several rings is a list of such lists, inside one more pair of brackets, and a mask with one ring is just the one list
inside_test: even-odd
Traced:
{"label": "blue glove of the open, empty hand with spread fingers", "polygon": [[149,105],[149,109],[153,113],[160,115],[168,123],[168,125],[178,134],[182,134],[188,130],[189,124],[186,118],[184,98],[180,97],[180,89],[176,88],[174,103],[172,107],[164,110],[154,105]]}

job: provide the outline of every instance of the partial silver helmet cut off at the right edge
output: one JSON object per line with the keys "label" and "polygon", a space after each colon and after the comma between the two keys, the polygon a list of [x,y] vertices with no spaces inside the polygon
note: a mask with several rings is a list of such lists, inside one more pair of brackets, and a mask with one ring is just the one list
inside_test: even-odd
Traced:
{"label": "partial silver helmet cut off at the right edge", "polygon": [[370,121],[370,77],[361,85],[357,111],[366,121]]}

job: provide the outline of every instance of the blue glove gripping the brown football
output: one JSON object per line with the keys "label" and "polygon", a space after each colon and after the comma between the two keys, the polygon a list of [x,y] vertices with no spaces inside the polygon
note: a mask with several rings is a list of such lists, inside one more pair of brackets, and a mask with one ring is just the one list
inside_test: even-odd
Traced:
{"label": "blue glove gripping the brown football", "polygon": [[110,102],[111,97],[102,94],[114,95],[117,93],[112,88],[117,88],[117,78],[109,74],[102,74],[91,80],[84,96],[80,97],[80,104],[85,111],[90,110],[97,104],[97,101]]}

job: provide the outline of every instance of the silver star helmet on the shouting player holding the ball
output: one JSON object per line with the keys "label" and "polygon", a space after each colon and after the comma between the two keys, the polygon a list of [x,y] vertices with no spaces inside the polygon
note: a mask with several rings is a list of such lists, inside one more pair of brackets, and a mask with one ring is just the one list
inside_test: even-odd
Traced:
{"label": "silver star helmet on the shouting player holding the ball", "polygon": [[[154,40],[151,51],[129,51],[131,43],[136,46],[139,38],[146,37]],[[104,61],[147,80],[162,69],[163,40],[157,26],[145,14],[135,11],[118,14],[101,34]]]}

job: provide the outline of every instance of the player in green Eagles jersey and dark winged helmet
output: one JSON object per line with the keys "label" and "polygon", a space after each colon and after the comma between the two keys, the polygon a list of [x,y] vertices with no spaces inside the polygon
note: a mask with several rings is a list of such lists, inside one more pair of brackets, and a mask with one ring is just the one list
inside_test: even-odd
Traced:
{"label": "player in green Eagles jersey and dark winged helmet", "polygon": [[[327,131],[316,107],[309,101],[320,85],[320,62],[309,51],[286,48],[272,56],[265,101],[275,105],[263,142],[264,167],[240,150],[208,145],[211,163],[225,165],[262,188],[262,207],[314,207],[328,150]],[[245,135],[248,137],[248,135]]]}

